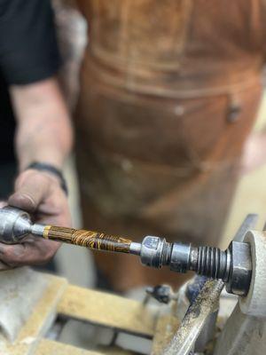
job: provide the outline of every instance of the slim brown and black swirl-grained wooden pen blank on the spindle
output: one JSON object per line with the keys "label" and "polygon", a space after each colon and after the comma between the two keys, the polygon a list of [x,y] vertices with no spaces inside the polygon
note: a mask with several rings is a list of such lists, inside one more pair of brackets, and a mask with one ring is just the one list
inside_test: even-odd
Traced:
{"label": "slim brown and black swirl-grained wooden pen blank on the spindle", "polygon": [[43,237],[91,249],[129,253],[131,241],[120,236],[47,225]]}

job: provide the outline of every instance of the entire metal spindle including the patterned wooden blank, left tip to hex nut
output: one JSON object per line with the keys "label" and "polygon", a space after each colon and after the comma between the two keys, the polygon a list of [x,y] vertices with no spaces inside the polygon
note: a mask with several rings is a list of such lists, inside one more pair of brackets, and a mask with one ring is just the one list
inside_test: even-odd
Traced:
{"label": "entire metal spindle including the patterned wooden blank, left tip to hex nut", "polygon": [[19,243],[28,234],[90,249],[137,255],[142,264],[154,268],[168,266],[174,272],[197,272],[210,279],[223,280],[228,292],[236,295],[246,295],[251,280],[250,248],[240,241],[232,241],[225,251],[193,247],[190,243],[169,243],[156,236],[146,236],[138,243],[111,234],[33,224],[25,211],[9,206],[0,209],[0,241]]}

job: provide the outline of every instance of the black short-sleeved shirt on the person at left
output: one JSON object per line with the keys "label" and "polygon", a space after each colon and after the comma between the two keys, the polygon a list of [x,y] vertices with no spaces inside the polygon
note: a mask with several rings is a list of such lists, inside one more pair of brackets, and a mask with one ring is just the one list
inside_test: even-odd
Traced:
{"label": "black short-sleeved shirt on the person at left", "polygon": [[35,83],[59,68],[50,0],[0,0],[0,164],[13,159],[8,85]]}

